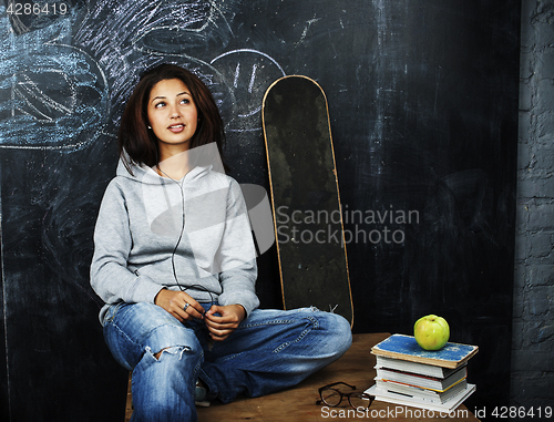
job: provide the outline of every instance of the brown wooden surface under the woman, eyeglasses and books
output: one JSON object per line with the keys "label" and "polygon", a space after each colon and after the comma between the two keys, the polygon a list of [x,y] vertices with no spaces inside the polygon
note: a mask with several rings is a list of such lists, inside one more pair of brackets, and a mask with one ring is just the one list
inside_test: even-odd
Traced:
{"label": "brown wooden surface under the woman, eyeglasses and books", "polygon": [[[209,408],[197,408],[199,422],[214,421],[260,421],[260,422],[322,422],[329,420],[402,420],[435,421],[455,420],[461,422],[479,421],[463,404],[450,418],[422,409],[407,408],[373,401],[366,412],[355,411],[342,402],[341,408],[326,408],[316,404],[318,389],[331,382],[342,381],[356,385],[357,390],[366,390],[375,381],[376,357],[370,353],[371,347],[389,337],[389,333],[355,334],[351,348],[337,362],[324,368],[297,387],[269,394],[263,398],[238,398],[233,403],[214,402]],[[346,404],[345,406],[342,406]]]}

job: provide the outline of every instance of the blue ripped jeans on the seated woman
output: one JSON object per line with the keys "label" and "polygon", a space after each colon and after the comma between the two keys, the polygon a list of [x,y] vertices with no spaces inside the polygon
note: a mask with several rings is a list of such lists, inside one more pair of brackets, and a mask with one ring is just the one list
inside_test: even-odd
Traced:
{"label": "blue ripped jeans on the seated woman", "polygon": [[206,383],[208,400],[259,397],[299,383],[351,343],[346,319],[302,308],[256,309],[211,347],[203,321],[181,323],[152,303],[112,306],[104,337],[114,358],[133,371],[133,422],[194,422],[197,378]]}

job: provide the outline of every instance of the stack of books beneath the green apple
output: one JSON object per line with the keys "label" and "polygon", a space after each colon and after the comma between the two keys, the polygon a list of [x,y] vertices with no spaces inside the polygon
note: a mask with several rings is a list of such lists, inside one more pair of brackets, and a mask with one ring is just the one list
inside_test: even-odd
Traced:
{"label": "stack of books beneath the green apple", "polygon": [[468,383],[468,361],[476,346],[447,343],[423,350],[411,336],[393,334],[371,348],[377,357],[376,400],[450,413],[475,391]]}

